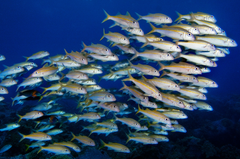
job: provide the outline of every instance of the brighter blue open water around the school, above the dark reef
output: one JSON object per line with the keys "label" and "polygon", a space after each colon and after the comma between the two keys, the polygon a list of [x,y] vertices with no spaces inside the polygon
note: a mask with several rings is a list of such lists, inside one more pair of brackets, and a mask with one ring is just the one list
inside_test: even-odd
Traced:
{"label": "brighter blue open water around the school, above the dark reef", "polygon": [[[103,9],[110,15],[118,12],[125,14],[128,11],[135,19],[138,18],[135,12],[140,15],[163,13],[173,20],[178,17],[176,11],[181,14],[206,12],[214,15],[217,24],[226,31],[227,36],[240,44],[240,11],[239,3],[235,0],[9,0],[1,2],[0,5],[0,54],[6,57],[6,60],[0,63],[12,66],[25,61],[23,56],[30,56],[40,50],[48,51],[51,56],[64,54],[64,49],[68,52],[80,51],[82,41],[87,45],[101,43],[108,46],[105,39],[99,42],[103,28],[108,31],[121,31],[119,27],[108,29],[112,21],[101,23],[105,18]],[[145,33],[150,31],[150,26],[144,20],[139,23]],[[217,61],[218,66],[205,75],[219,86],[208,89],[207,96],[219,102],[234,94],[240,94],[239,53],[239,47],[230,48],[230,55],[220,58]],[[41,60],[35,62],[41,64]],[[0,70],[3,69],[0,65]],[[121,84],[120,81],[117,83]],[[101,86],[104,87],[105,84],[106,82],[103,82]],[[111,83],[111,86],[114,85],[116,83]],[[16,95],[16,87],[8,90],[9,94],[4,96],[7,101]],[[214,101],[211,103],[214,104]],[[212,106],[221,110],[222,105]],[[207,115],[215,114],[213,111]]]}

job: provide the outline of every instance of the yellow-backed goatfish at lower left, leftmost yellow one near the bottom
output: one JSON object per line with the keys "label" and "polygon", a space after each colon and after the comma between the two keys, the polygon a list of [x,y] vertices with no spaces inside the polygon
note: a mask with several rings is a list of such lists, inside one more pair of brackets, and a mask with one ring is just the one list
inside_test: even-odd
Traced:
{"label": "yellow-backed goatfish at lower left, leftmost yellow one near the bottom", "polygon": [[37,141],[48,141],[48,140],[52,140],[52,137],[46,133],[43,132],[36,132],[36,133],[32,133],[29,135],[23,135],[21,133],[19,133],[22,138],[19,142],[21,142],[23,139],[30,139],[30,140],[37,140]]}

